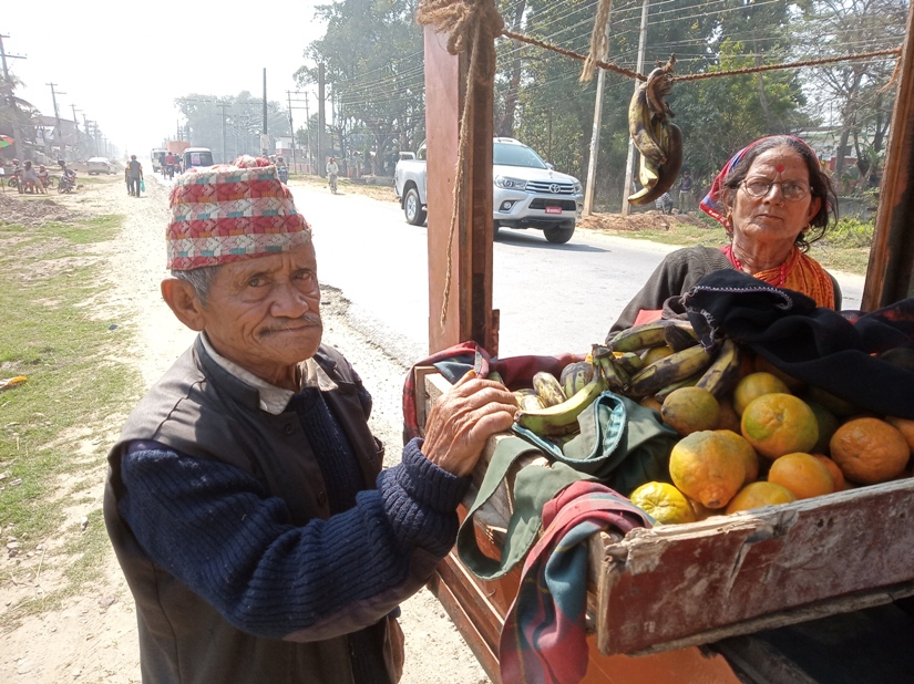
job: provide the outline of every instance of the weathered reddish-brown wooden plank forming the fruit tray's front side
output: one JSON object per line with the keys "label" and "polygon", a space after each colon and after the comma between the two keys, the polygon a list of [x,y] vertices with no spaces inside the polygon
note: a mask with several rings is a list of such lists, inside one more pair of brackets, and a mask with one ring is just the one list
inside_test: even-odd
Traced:
{"label": "weathered reddish-brown wooden plank forming the fruit tray's front side", "polygon": [[606,551],[600,652],[707,643],[889,601],[893,589],[904,595],[914,582],[912,501],[907,478],[635,530]]}

